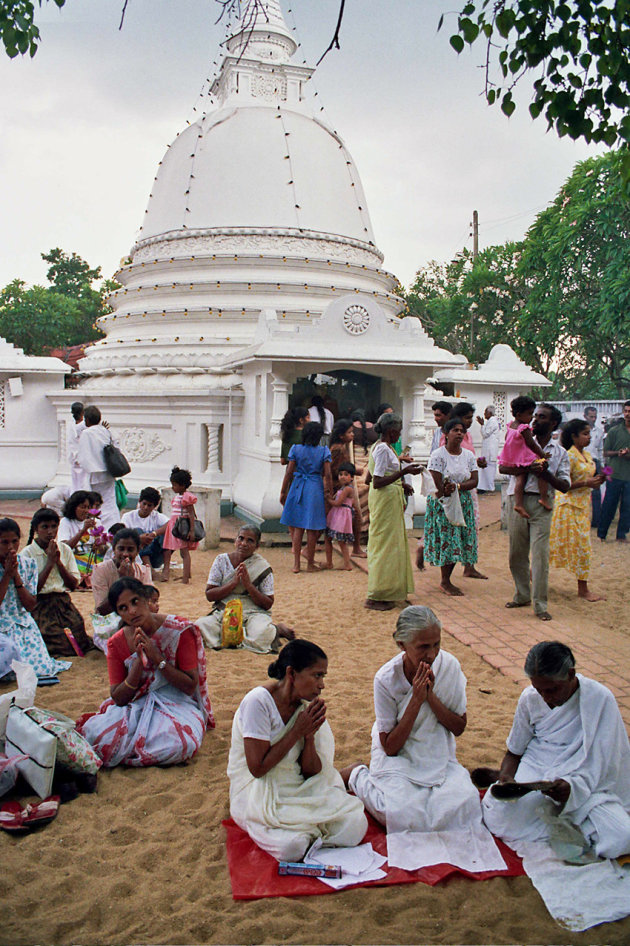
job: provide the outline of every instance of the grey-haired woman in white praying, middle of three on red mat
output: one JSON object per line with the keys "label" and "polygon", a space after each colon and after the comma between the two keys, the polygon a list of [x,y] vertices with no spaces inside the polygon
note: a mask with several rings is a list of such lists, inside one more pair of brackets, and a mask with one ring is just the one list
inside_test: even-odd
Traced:
{"label": "grey-haired woman in white praying, middle of three on red mat", "polygon": [[455,758],[455,737],[466,727],[466,678],[457,659],[440,650],[441,629],[430,608],[401,611],[394,640],[402,653],[374,678],[370,768],[342,775],[386,825],[390,866],[502,870],[479,793]]}

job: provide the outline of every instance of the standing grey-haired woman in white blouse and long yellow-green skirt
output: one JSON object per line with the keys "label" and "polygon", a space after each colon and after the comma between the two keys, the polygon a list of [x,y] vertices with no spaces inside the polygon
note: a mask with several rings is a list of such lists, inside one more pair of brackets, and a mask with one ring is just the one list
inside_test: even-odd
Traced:
{"label": "standing grey-haired woman in white blouse and long yellow-green skirt", "polygon": [[368,464],[370,533],[365,607],[389,611],[414,590],[405,529],[405,495],[413,488],[403,482],[403,476],[420,473],[422,467],[412,463],[403,469],[394,450],[402,431],[399,414],[381,414],[376,427],[380,440],[374,444]]}

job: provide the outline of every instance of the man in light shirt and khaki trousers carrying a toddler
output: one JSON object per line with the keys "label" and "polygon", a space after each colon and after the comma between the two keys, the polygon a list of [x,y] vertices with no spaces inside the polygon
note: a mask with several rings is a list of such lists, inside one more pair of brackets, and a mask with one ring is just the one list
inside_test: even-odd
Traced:
{"label": "man in light shirt and khaki trousers carrying a toddler", "polygon": [[[547,610],[549,584],[549,532],[552,510],[539,503],[540,475],[549,484],[548,499],[553,504],[554,490],[566,493],[571,485],[569,455],[558,441],[552,439],[559,426],[562,414],[552,404],[539,404],[534,414],[532,430],[548,456],[547,469],[542,474],[531,474],[525,483],[523,505],[529,513],[524,519],[514,512],[514,488],[520,467],[499,467],[499,473],[509,474],[508,484],[508,533],[510,536],[510,571],[514,579],[514,597],[506,608],[524,608],[533,603],[534,614],[541,621],[551,621]],[[530,586],[531,556],[531,586]]]}

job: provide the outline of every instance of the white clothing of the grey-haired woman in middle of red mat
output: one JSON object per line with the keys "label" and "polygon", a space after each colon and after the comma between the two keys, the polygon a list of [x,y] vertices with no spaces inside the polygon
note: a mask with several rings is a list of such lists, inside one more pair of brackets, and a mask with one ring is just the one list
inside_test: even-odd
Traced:
{"label": "white clothing of the grey-haired woman in middle of red mat", "polygon": [[[466,710],[466,678],[452,654],[440,651],[433,662],[434,693],[452,712]],[[437,719],[428,702],[420,707],[411,733],[395,756],[388,756],[380,733],[402,718],[413,687],[398,654],[374,679],[376,720],[372,755],[353,770],[350,788],[367,810],[387,827],[391,867],[417,870],[448,863],[464,870],[505,870],[492,836],[481,819],[479,793],[455,756],[455,736]]]}

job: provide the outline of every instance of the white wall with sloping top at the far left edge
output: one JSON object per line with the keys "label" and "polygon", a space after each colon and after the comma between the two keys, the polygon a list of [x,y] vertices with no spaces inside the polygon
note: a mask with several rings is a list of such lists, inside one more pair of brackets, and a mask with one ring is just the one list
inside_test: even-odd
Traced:
{"label": "white wall with sloping top at the far left edge", "polygon": [[46,395],[63,385],[63,372],[0,372],[0,489],[43,490],[54,475],[57,416]]}

